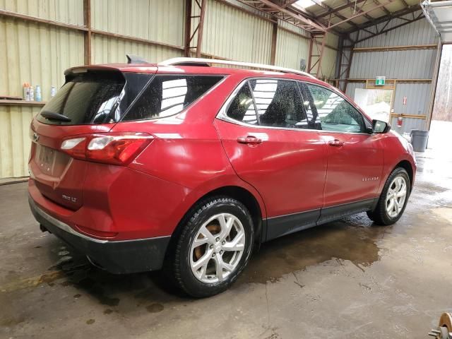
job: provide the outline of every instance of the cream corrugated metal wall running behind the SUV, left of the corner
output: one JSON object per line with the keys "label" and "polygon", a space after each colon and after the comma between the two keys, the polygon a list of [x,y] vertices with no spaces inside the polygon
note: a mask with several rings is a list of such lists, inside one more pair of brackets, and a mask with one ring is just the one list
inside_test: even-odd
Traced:
{"label": "cream corrugated metal wall running behind the SUV, left of the corner", "polygon": [[[227,2],[234,6],[208,0],[202,52],[270,64],[270,17],[235,0]],[[0,0],[0,9],[72,25],[84,24],[83,0]],[[91,0],[92,63],[124,62],[128,53],[154,62],[182,56],[184,11],[184,0]],[[309,58],[309,40],[302,36],[307,33],[287,23],[279,25],[286,29],[278,29],[275,63],[299,69],[299,61]],[[102,35],[96,30],[173,47]],[[0,95],[21,97],[22,84],[28,82],[40,85],[42,100],[49,100],[51,86],[59,88],[64,82],[64,70],[84,63],[84,34],[1,16]],[[329,35],[328,44],[337,46],[337,37]],[[327,48],[322,67],[328,77],[332,77],[334,63],[335,51]],[[0,105],[0,178],[28,175],[28,129],[40,108]]]}

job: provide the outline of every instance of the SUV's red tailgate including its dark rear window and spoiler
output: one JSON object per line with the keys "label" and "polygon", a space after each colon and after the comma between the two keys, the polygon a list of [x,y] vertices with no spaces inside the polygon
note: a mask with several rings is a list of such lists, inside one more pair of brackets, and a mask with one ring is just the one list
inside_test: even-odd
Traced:
{"label": "SUV's red tailgate including its dark rear window and spoiler", "polygon": [[43,196],[71,210],[83,206],[88,163],[61,152],[61,142],[110,131],[152,76],[89,67],[66,72],[66,83],[30,129],[30,177]]}

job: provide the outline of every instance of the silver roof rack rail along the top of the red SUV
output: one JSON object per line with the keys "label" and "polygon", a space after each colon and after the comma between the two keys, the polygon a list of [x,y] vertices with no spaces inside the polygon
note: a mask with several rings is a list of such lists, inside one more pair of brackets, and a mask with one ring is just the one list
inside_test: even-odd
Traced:
{"label": "silver roof rack rail along the top of the red SUV", "polygon": [[231,66],[245,66],[252,67],[254,69],[266,69],[270,71],[278,71],[283,73],[295,73],[301,76],[309,76],[310,78],[315,78],[315,76],[298,71],[297,69],[287,69],[280,66],[272,66],[266,64],[254,64],[252,62],[242,62],[242,61],[232,61],[232,60],[220,60],[220,59],[206,59],[206,58],[172,58],[167,59],[158,63],[158,66],[206,66],[206,64],[220,64],[220,65],[231,65]]}

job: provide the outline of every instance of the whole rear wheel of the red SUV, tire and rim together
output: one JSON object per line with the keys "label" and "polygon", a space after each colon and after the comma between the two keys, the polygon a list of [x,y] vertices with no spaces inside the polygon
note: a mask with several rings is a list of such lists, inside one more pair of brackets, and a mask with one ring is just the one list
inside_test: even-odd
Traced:
{"label": "whole rear wheel of the red SUV, tire and rim together", "polygon": [[177,239],[172,273],[177,285],[193,297],[226,290],[251,256],[251,215],[239,201],[208,198],[190,213]]}

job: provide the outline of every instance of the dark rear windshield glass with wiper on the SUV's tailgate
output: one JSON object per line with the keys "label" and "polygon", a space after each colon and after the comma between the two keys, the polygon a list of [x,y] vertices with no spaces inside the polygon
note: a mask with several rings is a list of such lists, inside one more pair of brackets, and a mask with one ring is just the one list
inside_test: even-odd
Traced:
{"label": "dark rear windshield glass with wiper on the SUV's tailgate", "polygon": [[41,113],[61,114],[71,119],[46,119],[41,114],[37,119],[45,124],[102,124],[115,122],[120,117],[114,112],[124,96],[126,80],[119,72],[88,71],[66,78],[66,83]]}

